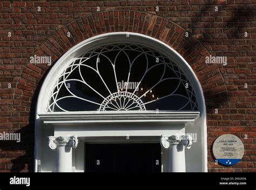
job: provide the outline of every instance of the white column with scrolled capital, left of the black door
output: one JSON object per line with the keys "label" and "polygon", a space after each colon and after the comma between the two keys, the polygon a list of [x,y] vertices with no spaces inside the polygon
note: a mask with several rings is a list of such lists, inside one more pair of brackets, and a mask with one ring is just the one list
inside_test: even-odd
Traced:
{"label": "white column with scrolled capital, left of the black door", "polygon": [[72,172],[72,148],[76,148],[76,136],[48,137],[49,147],[57,150],[56,172]]}

